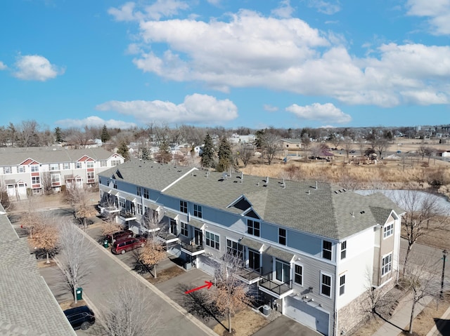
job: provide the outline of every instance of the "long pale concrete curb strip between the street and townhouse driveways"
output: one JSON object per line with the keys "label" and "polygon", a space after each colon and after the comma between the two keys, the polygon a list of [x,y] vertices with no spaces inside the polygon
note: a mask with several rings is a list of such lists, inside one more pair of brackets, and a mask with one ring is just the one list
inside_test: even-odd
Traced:
{"label": "long pale concrete curb strip between the street and townhouse driveways", "polygon": [[176,302],[174,302],[174,300],[172,300],[170,297],[168,297],[167,295],[165,295],[164,293],[162,293],[158,288],[155,287],[155,285],[149,283],[148,281],[146,281],[144,278],[142,278],[142,276],[140,276],[139,274],[136,273],[136,271],[133,271],[131,269],[131,267],[129,267],[127,264],[125,264],[124,262],[122,262],[122,260],[119,260],[117,257],[115,257],[114,255],[112,255],[110,253],[109,249],[104,248],[103,246],[99,245],[98,242],[92,238],[91,236],[89,236],[89,234],[87,234],[85,231],[83,231],[81,228],[79,228],[78,226],[76,226],[77,229],[79,229],[79,231],[82,231],[82,233],[84,234],[84,236],[86,236],[86,238],[89,239],[89,241],[91,241],[91,243],[94,243],[94,245],[99,248],[101,251],[103,251],[103,253],[105,253],[106,255],[108,255],[108,257],[110,257],[111,259],[115,260],[115,262],[117,262],[117,264],[120,264],[121,267],[123,267],[124,269],[126,269],[127,271],[129,271],[130,274],[132,274],[137,280],[139,280],[141,283],[143,283],[143,285],[146,285],[147,288],[149,288],[150,290],[153,291],[153,293],[155,293],[156,295],[158,295],[162,300],[165,300],[165,302],[167,302],[168,304],[170,304],[170,306],[172,308],[174,308],[176,311],[178,311],[182,316],[184,316],[188,321],[191,321],[193,324],[197,325],[198,328],[200,328],[201,330],[203,330],[203,332],[205,332],[207,335],[210,336],[219,336],[216,332],[214,332],[213,330],[211,330],[210,328],[208,328],[204,323],[202,323],[201,321],[198,320],[198,318],[196,318],[195,316],[193,316],[191,313],[189,313],[188,311],[186,311],[186,309],[184,309],[183,307],[181,307],[179,304],[177,304]]}

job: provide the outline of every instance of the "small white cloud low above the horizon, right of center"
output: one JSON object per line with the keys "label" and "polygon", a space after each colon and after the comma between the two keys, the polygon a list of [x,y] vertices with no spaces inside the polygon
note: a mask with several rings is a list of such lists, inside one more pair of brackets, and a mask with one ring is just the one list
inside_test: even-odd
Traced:
{"label": "small white cloud low above the horizon, right of center", "polygon": [[328,121],[331,123],[349,123],[352,121],[352,117],[349,114],[345,114],[329,102],[326,104],[315,102],[307,106],[293,104],[286,107],[286,111],[292,112],[298,118],[306,120]]}

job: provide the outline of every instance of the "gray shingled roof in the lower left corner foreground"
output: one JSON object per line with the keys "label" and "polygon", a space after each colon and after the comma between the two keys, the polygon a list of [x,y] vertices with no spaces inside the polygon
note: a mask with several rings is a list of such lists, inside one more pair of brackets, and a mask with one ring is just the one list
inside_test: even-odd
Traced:
{"label": "gray shingled roof in the lower left corner foreground", "polygon": [[0,231],[0,335],[77,335],[39,275],[27,238],[1,214]]}

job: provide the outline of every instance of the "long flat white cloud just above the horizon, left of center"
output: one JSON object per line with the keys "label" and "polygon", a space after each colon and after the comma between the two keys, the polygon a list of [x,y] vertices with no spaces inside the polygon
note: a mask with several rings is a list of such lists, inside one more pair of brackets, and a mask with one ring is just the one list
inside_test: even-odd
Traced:
{"label": "long flat white cloud just above the horizon, left of center", "polygon": [[140,123],[158,120],[167,123],[222,124],[238,117],[238,108],[231,100],[217,100],[210,95],[198,93],[186,95],[184,102],[179,105],[161,100],[112,100],[97,105],[96,109],[131,115]]}

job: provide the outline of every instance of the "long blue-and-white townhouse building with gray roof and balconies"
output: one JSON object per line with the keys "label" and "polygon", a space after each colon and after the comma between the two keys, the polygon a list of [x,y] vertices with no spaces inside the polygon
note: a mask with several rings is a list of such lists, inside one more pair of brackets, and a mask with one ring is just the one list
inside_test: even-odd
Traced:
{"label": "long blue-and-white townhouse building with gray roof and balconies", "polygon": [[352,330],[368,291],[396,283],[403,210],[383,194],[145,161],[98,178],[102,213],[136,233],[158,229],[186,269],[213,275],[236,255],[261,305],[323,335]]}

